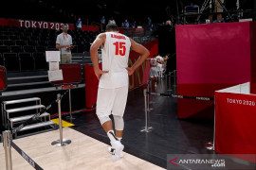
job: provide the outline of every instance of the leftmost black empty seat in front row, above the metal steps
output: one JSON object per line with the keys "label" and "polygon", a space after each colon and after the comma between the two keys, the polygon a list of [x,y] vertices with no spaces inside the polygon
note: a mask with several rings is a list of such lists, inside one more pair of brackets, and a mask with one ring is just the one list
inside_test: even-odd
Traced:
{"label": "leftmost black empty seat in front row, above the metal steps", "polygon": [[5,67],[10,72],[20,72],[20,59],[16,53],[4,53]]}

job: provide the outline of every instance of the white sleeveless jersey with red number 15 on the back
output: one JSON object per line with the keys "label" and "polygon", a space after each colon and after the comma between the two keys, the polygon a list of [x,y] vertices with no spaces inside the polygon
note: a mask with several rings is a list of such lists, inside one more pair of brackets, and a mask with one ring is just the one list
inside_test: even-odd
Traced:
{"label": "white sleeveless jersey with red number 15 on the back", "polygon": [[131,48],[128,37],[117,32],[106,32],[106,40],[101,48],[102,70],[109,73],[103,74],[99,87],[115,89],[128,86],[129,77],[126,68]]}

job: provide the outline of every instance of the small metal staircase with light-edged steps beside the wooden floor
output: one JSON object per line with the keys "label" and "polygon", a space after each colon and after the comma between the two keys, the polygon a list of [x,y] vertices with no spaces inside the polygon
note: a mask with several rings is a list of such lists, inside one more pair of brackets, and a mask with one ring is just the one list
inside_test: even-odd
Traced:
{"label": "small metal staircase with light-edged steps beside the wooden floor", "polygon": [[[9,100],[2,102],[2,124],[9,130],[20,126],[34,114],[45,109],[46,107],[41,104],[39,97]],[[29,125],[23,127],[15,134],[15,138],[37,134],[43,131],[56,129],[58,126],[50,121],[50,114],[44,112],[37,120],[33,120]]]}

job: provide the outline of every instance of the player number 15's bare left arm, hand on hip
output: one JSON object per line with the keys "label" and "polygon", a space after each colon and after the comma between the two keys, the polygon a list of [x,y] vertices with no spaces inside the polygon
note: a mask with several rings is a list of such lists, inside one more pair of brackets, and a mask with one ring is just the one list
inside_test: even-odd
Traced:
{"label": "player number 15's bare left arm, hand on hip", "polygon": [[99,68],[99,61],[98,61],[98,49],[100,48],[101,45],[104,44],[105,39],[106,39],[106,35],[104,33],[100,34],[90,47],[90,53],[91,53],[94,73],[98,77],[98,79],[101,78],[102,74],[108,73],[107,71],[102,71]]}

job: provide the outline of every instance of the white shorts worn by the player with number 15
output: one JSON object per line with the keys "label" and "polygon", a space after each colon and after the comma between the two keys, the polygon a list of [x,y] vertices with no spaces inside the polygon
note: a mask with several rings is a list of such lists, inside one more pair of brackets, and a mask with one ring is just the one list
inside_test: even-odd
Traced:
{"label": "white shorts worn by the player with number 15", "polygon": [[123,116],[128,95],[128,86],[116,89],[98,89],[96,113],[98,117],[113,115]]}

